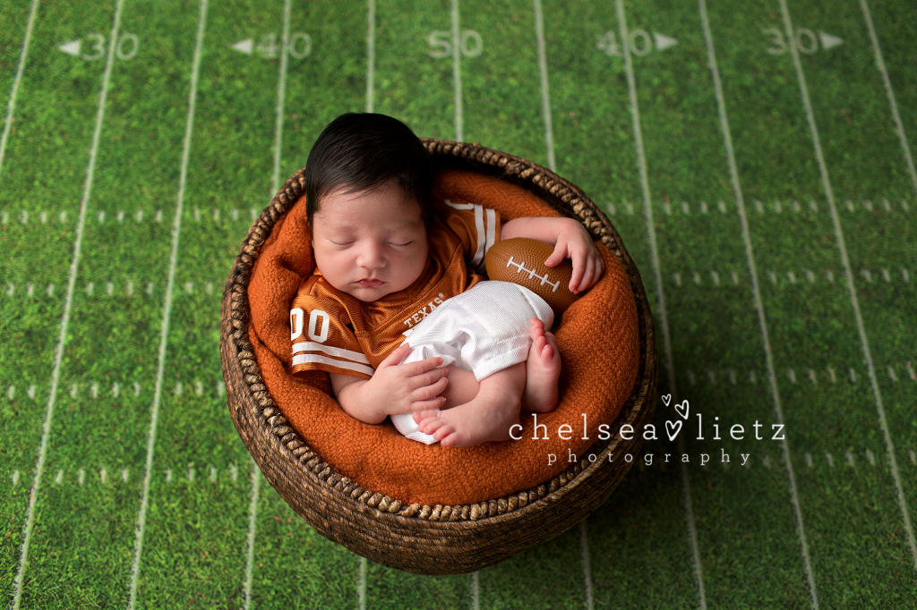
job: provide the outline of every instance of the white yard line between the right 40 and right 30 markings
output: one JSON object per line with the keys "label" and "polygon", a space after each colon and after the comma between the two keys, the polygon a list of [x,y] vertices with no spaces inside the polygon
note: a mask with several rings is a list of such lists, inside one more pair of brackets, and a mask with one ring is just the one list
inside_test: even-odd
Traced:
{"label": "white yard line between the right 40 and right 30 markings", "polygon": [[[733,182],[733,191],[735,192],[735,202],[738,207],[739,219],[742,223],[742,240],[745,243],[746,258],[748,261],[748,270],[751,272],[752,293],[755,297],[755,308],[757,309],[757,321],[761,327],[761,338],[764,342],[764,354],[768,364],[768,383],[770,384],[770,394],[774,400],[774,412],[777,415],[777,422],[780,426],[784,424],[783,408],[780,405],[780,392],[777,385],[777,376],[774,373],[774,356],[770,349],[770,339],[768,333],[768,321],[764,314],[764,302],[761,300],[761,290],[757,283],[757,267],[755,265],[755,254],[752,250],[751,237],[748,233],[748,219],[745,211],[745,198],[742,195],[742,186],[739,183],[738,169],[735,166],[735,152],[733,149],[733,136],[729,129],[729,118],[726,115],[726,103],[723,96],[723,84],[720,82],[720,69],[716,64],[716,54],[713,51],[713,35],[710,31],[710,21],[707,18],[707,3],[705,0],[699,0],[701,6],[701,20],[703,23],[703,38],[707,44],[707,55],[710,58],[710,71],[713,73],[713,86],[716,91],[716,107],[720,114],[720,126],[723,130],[723,139],[726,147],[726,158],[729,161],[729,175]],[[802,563],[805,567],[806,578],[809,581],[809,592],[812,595],[812,608],[818,610],[818,592],[815,588],[815,577],[812,572],[812,559],[809,554],[809,544],[806,541],[805,528],[802,525],[802,507],[799,499],[799,492],[796,486],[796,475],[793,472],[793,463],[790,459],[790,444],[786,437],[781,441],[783,447],[783,460],[787,466],[787,474],[790,478],[790,499],[793,505],[793,513],[796,517],[796,529],[800,538],[802,550]]]}

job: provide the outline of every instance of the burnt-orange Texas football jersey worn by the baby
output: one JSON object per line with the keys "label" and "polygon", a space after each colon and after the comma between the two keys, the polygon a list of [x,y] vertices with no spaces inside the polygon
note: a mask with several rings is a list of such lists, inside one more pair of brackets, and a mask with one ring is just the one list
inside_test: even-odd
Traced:
{"label": "burnt-orange Texas football jersey worn by the baby", "polygon": [[303,279],[290,310],[293,375],[370,378],[415,324],[484,279],[484,257],[500,241],[500,214],[448,201],[435,210],[426,266],[408,288],[364,303],[335,289],[317,268]]}

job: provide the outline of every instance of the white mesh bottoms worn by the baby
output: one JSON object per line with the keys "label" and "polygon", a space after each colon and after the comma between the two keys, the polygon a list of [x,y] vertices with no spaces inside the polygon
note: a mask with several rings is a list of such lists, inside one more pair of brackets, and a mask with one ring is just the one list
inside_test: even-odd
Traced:
{"label": "white mesh bottoms worn by the baby", "polygon": [[[441,366],[456,365],[478,381],[528,359],[531,318],[554,323],[554,311],[535,292],[512,282],[482,281],[428,314],[407,332],[411,352],[401,364],[439,356]],[[392,415],[392,423],[414,441],[436,442],[417,430],[411,413]]]}

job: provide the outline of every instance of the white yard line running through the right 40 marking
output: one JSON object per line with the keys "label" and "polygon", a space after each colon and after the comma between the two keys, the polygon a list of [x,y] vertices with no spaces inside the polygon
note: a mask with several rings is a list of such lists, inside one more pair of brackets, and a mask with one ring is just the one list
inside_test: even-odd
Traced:
{"label": "white yard line running through the right 40 marking", "polygon": [[[672,360],[672,342],[668,333],[668,314],[666,312],[665,294],[662,288],[662,272],[659,267],[659,251],[656,244],[656,224],[653,222],[653,207],[649,196],[649,180],[646,177],[646,153],[643,148],[643,129],[640,126],[640,108],[636,99],[636,83],[634,79],[634,64],[631,61],[630,48],[627,44],[627,20],[624,16],[623,0],[614,2],[618,14],[619,36],[623,41],[621,47],[624,49],[624,68],[627,71],[627,89],[630,94],[631,117],[634,123],[634,140],[637,155],[637,169],[640,173],[640,187],[643,190],[644,209],[646,210],[646,229],[649,234],[650,256],[653,261],[653,276],[656,280],[656,289],[658,293],[659,306],[658,313],[662,321],[662,340],[666,351],[666,369],[668,372],[668,387],[672,396],[677,397],[678,387],[675,383],[675,365]],[[679,452],[684,452],[684,441],[679,435]],[[688,539],[691,544],[691,554],[694,558],[694,578],[697,582],[698,599],[701,603],[702,610],[707,608],[707,596],[703,590],[703,570],[701,565],[701,553],[697,545],[697,528],[694,526],[694,511],[691,507],[691,485],[688,481],[688,467],[680,463],[681,481],[684,490],[685,504],[685,521],[688,526]]]}

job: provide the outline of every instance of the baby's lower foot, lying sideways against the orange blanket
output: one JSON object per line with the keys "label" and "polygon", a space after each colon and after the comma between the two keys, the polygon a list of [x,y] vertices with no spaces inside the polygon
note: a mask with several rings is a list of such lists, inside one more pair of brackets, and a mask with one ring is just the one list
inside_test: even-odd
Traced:
{"label": "baby's lower foot, lying sideways against the orange blanket", "polygon": [[519,423],[519,404],[474,399],[464,405],[428,414],[417,430],[431,434],[443,447],[470,447],[486,441],[508,441],[510,427]]}

